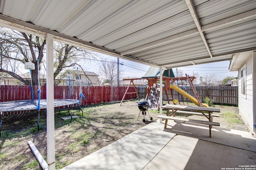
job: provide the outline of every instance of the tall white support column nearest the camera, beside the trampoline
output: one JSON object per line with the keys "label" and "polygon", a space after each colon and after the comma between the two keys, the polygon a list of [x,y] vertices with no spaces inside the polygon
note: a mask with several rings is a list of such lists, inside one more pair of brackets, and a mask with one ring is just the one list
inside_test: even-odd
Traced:
{"label": "tall white support column nearest the camera, beside the trampoline", "polygon": [[55,170],[53,35],[46,34],[47,163]]}

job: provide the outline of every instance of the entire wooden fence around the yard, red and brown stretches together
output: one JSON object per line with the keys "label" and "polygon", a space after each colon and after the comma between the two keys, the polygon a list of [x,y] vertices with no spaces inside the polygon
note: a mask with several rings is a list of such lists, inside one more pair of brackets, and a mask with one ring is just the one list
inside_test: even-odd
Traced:
{"label": "entire wooden fence around the yard, red and brown stretches together", "polygon": [[[8,86],[1,85],[0,90],[0,102],[14,101],[14,100],[31,100],[31,90],[30,86]],[[41,88],[41,99],[46,99],[46,86],[40,86]],[[86,101],[81,98],[80,106],[86,106],[91,104],[100,104],[107,102],[116,102],[122,100],[124,92],[127,87],[103,87],[103,86],[82,86],[82,93],[86,97]],[[38,99],[38,86],[33,86],[34,99]],[[140,89],[144,90],[145,89]],[[237,86],[211,86],[206,88],[204,86],[196,86],[202,101],[206,98],[206,95],[209,94],[209,98],[212,102],[217,104],[238,104],[238,87]],[[208,90],[208,91],[207,91]],[[186,92],[194,96],[190,87],[186,87]],[[134,92],[134,88],[129,87],[128,92]],[[140,92],[141,93],[141,92]],[[145,92],[144,92],[145,94]],[[172,100],[170,95],[170,90],[167,91],[168,97]],[[66,98],[68,99],[69,95],[69,86],[55,86],[54,87],[54,97],[55,98]],[[180,99],[178,92],[173,91],[174,99]],[[79,100],[80,97],[80,86],[71,86],[71,96],[70,99]],[[124,100],[136,99],[136,94],[126,94]],[[164,95],[165,97],[165,95]],[[184,98],[185,99],[185,98]],[[13,114],[8,113],[8,115]]]}

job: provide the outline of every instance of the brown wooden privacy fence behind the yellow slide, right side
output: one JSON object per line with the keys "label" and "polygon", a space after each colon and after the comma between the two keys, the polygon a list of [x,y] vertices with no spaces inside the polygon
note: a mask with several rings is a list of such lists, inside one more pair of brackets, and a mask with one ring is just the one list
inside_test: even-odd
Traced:
{"label": "brown wooden privacy fence behind the yellow slide, right side", "polygon": [[[195,88],[203,103],[206,96],[208,96],[211,102],[214,104],[238,105],[238,86],[210,86],[209,88],[206,86],[195,86]],[[195,97],[190,86],[183,86],[183,90],[191,96]],[[145,98],[145,89],[143,90],[142,88],[137,88],[137,91],[140,98]],[[169,100],[172,100],[170,90],[167,91],[167,94]],[[187,100],[184,96],[182,96],[175,90],[173,90],[173,97],[174,99],[178,99],[179,102],[189,102],[189,100]],[[166,94],[163,95],[163,98],[163,100],[166,100]]]}

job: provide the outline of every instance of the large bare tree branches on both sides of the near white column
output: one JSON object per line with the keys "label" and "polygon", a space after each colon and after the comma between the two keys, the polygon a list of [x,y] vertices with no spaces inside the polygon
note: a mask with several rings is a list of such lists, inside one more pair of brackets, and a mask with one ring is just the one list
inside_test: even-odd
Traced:
{"label": "large bare tree branches on both sides of the near white column", "polygon": [[[5,72],[24,84],[30,85],[30,80],[19,76],[19,66],[23,66],[26,62],[32,62],[36,66],[36,69],[32,70],[32,84],[37,85],[37,60],[39,61],[39,70],[41,70],[40,66],[45,62],[43,58],[45,44],[45,38],[0,27],[0,72]],[[81,59],[91,59],[94,58],[94,55],[91,51],[79,47],[54,42],[54,84],[60,83],[66,73],[65,68],[80,66],[85,62]]]}

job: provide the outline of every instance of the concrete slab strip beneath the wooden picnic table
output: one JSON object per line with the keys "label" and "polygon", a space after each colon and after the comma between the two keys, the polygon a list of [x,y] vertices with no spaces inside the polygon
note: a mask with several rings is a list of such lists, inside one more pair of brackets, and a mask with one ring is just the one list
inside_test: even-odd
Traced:
{"label": "concrete slab strip beneath the wooden picnic table", "polygon": [[[161,124],[164,129],[164,121]],[[212,138],[209,138],[208,125],[174,122],[173,120],[168,121],[167,129],[164,131],[256,152],[256,138],[246,131],[212,126]]]}

